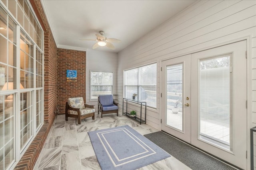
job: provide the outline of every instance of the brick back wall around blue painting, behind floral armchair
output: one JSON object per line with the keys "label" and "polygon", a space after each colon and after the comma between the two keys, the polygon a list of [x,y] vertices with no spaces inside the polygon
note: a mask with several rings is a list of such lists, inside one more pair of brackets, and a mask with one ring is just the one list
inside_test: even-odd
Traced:
{"label": "brick back wall around blue painting, behind floral armchair", "polygon": [[[57,56],[58,107],[59,114],[64,114],[68,98],[83,97],[86,102],[86,52],[58,49]],[[67,82],[67,70],[77,70],[76,82]]]}

